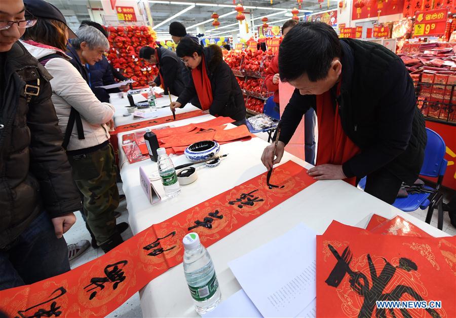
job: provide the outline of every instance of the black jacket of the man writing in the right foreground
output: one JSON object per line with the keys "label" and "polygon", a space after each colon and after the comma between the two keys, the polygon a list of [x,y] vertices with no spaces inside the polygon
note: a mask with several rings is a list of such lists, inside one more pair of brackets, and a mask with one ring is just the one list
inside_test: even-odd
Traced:
{"label": "black jacket of the man writing in the right foreground", "polygon": [[[404,63],[379,44],[354,39],[340,43],[342,78],[334,105],[339,107],[344,132],[361,149],[343,164],[344,173],[362,178],[385,167],[402,181],[414,183],[423,164],[427,135]],[[279,140],[289,142],[310,107],[316,109],[315,95],[300,95],[296,89],[282,114]]]}

